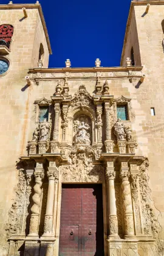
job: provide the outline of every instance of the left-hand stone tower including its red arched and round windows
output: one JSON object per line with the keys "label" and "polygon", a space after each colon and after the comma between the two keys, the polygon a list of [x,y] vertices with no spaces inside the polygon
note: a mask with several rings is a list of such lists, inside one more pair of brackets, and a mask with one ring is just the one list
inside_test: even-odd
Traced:
{"label": "left-hand stone tower including its red arched and round windows", "polygon": [[[17,182],[15,155],[25,154],[26,129],[29,127],[30,98],[32,87],[25,77],[30,68],[47,68],[49,64],[49,36],[41,5],[9,4],[0,5],[0,168],[4,186],[0,193],[5,201],[0,206],[1,224],[7,220],[7,205]],[[3,117],[2,117],[3,116]],[[4,167],[5,166],[5,167]],[[12,179],[10,178],[12,175]],[[1,255],[5,255],[2,254]]]}

